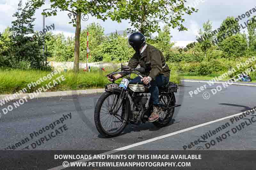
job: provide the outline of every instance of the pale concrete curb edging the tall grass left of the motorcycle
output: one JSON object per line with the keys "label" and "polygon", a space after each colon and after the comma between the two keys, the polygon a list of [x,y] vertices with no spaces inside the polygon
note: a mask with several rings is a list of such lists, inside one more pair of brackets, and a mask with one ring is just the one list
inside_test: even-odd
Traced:
{"label": "pale concrete curb edging the tall grass left of the motorcycle", "polygon": [[34,93],[25,93],[13,97],[13,94],[0,95],[0,100],[18,100],[22,98],[30,98],[30,96],[35,96],[34,98],[43,98],[43,97],[57,97],[57,96],[71,96],[79,94],[93,94],[93,93],[102,93],[105,89],[88,89],[88,90],[72,90],[72,91],[59,91],[59,92],[41,92],[38,95]]}

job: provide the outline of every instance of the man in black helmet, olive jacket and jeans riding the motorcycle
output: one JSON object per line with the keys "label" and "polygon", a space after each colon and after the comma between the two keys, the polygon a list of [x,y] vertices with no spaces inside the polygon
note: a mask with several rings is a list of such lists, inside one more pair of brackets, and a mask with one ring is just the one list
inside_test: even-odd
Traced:
{"label": "man in black helmet, olive jacket and jeans riding the motorcycle", "polygon": [[[154,46],[146,44],[146,38],[142,33],[132,33],[128,38],[129,44],[135,50],[135,54],[130,59],[128,66],[135,69],[138,64],[145,69],[143,73],[147,77],[143,79],[139,76],[130,80],[130,83],[143,82],[145,85],[150,84],[151,97],[153,99],[153,112],[148,118],[149,122],[155,122],[162,113],[162,108],[159,107],[159,92],[158,87],[161,87],[169,82],[170,69],[165,63],[164,55]],[[108,77],[109,81],[114,81],[126,75],[117,74],[112,76],[113,79]]]}

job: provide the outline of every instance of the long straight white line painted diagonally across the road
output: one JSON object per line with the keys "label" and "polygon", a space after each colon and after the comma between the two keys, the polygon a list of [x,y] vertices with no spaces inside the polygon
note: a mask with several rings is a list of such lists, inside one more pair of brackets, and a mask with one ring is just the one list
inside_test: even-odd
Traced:
{"label": "long straight white line painted diagonally across the road", "polygon": [[[130,148],[136,147],[136,146],[140,146],[142,144],[147,144],[147,143],[150,143],[150,142],[154,142],[156,140],[164,139],[166,137],[170,137],[170,136],[173,136],[173,135],[177,135],[179,133],[186,132],[188,130],[196,129],[196,128],[199,128],[199,127],[202,127],[202,126],[205,126],[205,125],[208,125],[208,124],[212,124],[212,123],[215,123],[215,122],[220,122],[222,120],[225,120],[225,119],[228,119],[228,118],[231,118],[231,117],[234,117],[234,116],[239,116],[239,115],[242,115],[243,113],[245,113],[247,111],[244,111],[244,112],[241,112],[241,113],[237,113],[235,115],[223,117],[223,118],[220,118],[220,119],[217,119],[217,120],[214,120],[214,121],[206,122],[206,123],[203,123],[203,124],[199,124],[199,125],[187,128],[187,129],[182,129],[182,130],[179,130],[179,131],[176,131],[176,132],[172,132],[172,133],[160,136],[160,137],[154,137],[152,139],[148,139],[148,140],[145,140],[145,141],[142,141],[142,142],[138,142],[136,144],[131,144],[131,145],[128,145],[128,146],[124,146],[122,148],[118,148],[118,149],[112,150],[112,151],[104,152],[104,153],[101,153],[99,155],[109,155],[109,154],[113,154],[113,153],[116,153],[116,152],[119,152],[119,151],[124,151],[124,150],[130,149]],[[253,109],[251,109],[249,111],[256,111],[256,109],[253,108]],[[93,159],[80,159],[80,160],[77,160],[77,161],[74,161],[74,162],[87,162],[87,161],[90,161],[90,160],[93,160]],[[68,166],[68,167],[70,167],[70,166]],[[61,170],[61,169],[65,169],[65,168],[66,167],[63,167],[62,165],[60,165],[60,166],[57,166],[57,167],[54,167],[54,168],[51,168],[51,169],[48,169],[48,170]]]}

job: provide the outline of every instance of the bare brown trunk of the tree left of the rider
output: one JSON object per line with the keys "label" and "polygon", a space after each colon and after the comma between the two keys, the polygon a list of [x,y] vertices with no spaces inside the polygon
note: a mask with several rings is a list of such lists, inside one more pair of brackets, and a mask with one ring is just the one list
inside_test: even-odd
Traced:
{"label": "bare brown trunk of the tree left of the rider", "polygon": [[80,33],[81,33],[81,12],[76,15],[76,34],[75,34],[75,59],[74,59],[74,72],[79,71],[79,48],[80,48]]}

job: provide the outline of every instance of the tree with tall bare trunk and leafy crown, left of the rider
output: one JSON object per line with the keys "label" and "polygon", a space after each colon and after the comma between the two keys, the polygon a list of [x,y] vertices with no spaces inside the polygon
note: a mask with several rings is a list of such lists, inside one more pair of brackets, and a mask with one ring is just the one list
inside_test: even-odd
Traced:
{"label": "tree with tall bare trunk and leafy crown, left of the rider", "polygon": [[[105,21],[107,19],[102,13],[107,12],[111,9],[111,5],[108,5],[109,0],[93,0],[88,2],[87,0],[50,0],[52,11],[43,12],[42,14],[46,17],[57,15],[57,10],[60,11],[69,11],[74,14],[70,24],[73,23],[73,26],[76,27],[75,33],[75,46],[74,46],[74,71],[78,72],[79,70],[79,54],[80,54],[80,33],[81,33],[81,14],[92,13],[98,19]],[[45,0],[37,0],[33,3],[35,8],[39,8],[44,5]]]}

